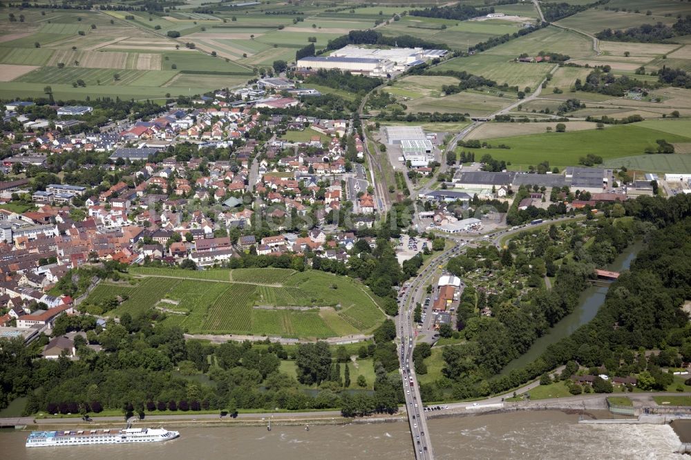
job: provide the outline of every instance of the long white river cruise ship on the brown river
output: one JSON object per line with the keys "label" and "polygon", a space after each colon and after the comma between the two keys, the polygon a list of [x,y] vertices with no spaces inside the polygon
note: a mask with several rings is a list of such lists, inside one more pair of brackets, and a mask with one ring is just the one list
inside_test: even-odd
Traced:
{"label": "long white river cruise ship on the brown river", "polygon": [[177,431],[164,428],[125,428],[124,430],[65,430],[32,431],[26,447],[53,447],[55,445],[89,445],[120,443],[156,443],[180,436]]}

